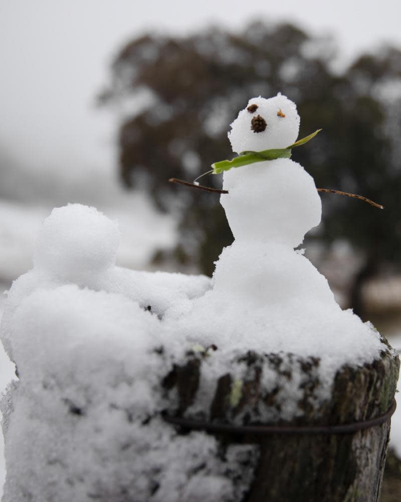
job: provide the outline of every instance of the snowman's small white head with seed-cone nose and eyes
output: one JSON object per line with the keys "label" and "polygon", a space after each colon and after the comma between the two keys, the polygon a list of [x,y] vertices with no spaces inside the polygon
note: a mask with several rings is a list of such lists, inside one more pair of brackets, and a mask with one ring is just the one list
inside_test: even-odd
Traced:
{"label": "snowman's small white head with seed-cone nose and eyes", "polygon": [[292,145],[299,132],[297,106],[280,93],[275,97],[249,100],[231,124],[229,140],[233,152],[260,152]]}

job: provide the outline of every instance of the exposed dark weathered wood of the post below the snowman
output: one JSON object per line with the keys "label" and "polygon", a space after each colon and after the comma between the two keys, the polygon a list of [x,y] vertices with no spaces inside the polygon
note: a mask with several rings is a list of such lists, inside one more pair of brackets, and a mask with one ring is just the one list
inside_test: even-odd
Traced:
{"label": "exposed dark weathered wood of the post below the snowman", "polygon": [[[223,455],[229,445],[258,445],[254,478],[242,502],[380,499],[398,356],[386,350],[372,363],[343,366],[331,398],[322,402],[317,358],[248,352],[233,360],[230,373],[208,378],[210,358],[217,354],[189,353],[166,376],[163,385],[173,402],[166,420],[182,433],[206,429]],[[267,389],[264,376],[271,383],[273,373],[276,385]],[[287,382],[298,386],[292,397]],[[298,417],[280,418],[294,414],[294,406]],[[363,428],[381,416],[382,423]],[[342,430],[344,424],[355,430]],[[340,427],[331,433],[327,426]],[[320,427],[327,430],[316,433]]]}

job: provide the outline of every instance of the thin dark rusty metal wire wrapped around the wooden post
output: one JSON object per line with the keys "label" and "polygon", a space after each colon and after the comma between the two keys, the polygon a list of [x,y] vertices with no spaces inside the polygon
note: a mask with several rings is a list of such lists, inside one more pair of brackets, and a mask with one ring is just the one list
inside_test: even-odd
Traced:
{"label": "thin dark rusty metal wire wrapped around the wooden post", "polygon": [[204,430],[207,432],[227,433],[227,434],[351,434],[353,432],[369,429],[388,422],[395,412],[395,399],[390,408],[379,417],[352,424],[342,425],[229,425],[212,424],[210,422],[200,422],[188,420],[180,417],[163,416],[169,424],[176,425],[186,430]]}

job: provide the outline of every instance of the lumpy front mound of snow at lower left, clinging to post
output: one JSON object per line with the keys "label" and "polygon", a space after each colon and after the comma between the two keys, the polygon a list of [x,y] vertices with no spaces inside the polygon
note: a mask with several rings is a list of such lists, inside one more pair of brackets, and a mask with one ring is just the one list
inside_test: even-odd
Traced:
{"label": "lumpy front mound of snow at lower left, clinging to post", "polygon": [[[180,436],[157,418],[168,365],[154,351],[165,342],[156,316],[119,294],[69,284],[36,289],[16,318],[20,381],[10,420],[5,413],[4,500],[195,500],[209,482],[206,500],[234,499],[217,441]],[[256,450],[228,454],[241,493],[251,474],[241,462],[252,465]]]}

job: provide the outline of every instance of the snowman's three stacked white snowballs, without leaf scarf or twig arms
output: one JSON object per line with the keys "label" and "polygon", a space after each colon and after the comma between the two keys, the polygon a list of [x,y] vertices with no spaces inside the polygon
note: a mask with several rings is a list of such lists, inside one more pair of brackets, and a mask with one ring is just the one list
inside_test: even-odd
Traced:
{"label": "snowman's three stacked white snowballs, without leaf scarf or twig arms", "polygon": [[[299,121],[287,97],[253,98],[231,124],[229,139],[237,153],[286,148],[297,139]],[[319,194],[303,167],[275,159],[234,168],[225,171],[223,188],[229,193],[220,200],[235,241],[217,262],[214,289],[261,307],[292,300],[335,303],[326,279],[294,251],[321,218]]]}

